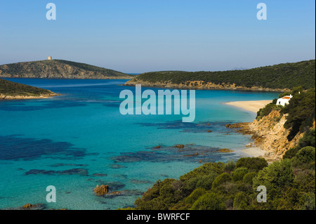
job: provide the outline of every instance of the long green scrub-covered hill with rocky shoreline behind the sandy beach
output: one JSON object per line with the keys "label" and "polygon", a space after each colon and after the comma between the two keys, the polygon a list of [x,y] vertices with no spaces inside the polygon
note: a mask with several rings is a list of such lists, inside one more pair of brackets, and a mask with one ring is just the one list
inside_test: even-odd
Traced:
{"label": "long green scrub-covered hill with rocky shoreline behind the sandy beach", "polygon": [[296,86],[308,89],[315,87],[315,60],[225,72],[147,72],[126,82],[126,85],[135,84],[255,91],[285,91]]}

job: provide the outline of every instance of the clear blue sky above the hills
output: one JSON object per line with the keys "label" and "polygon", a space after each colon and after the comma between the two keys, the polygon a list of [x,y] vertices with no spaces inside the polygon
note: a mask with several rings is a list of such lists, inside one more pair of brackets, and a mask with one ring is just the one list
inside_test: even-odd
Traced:
{"label": "clear blue sky above the hills", "polygon": [[49,55],[126,73],[315,59],[315,1],[0,0],[0,65]]}

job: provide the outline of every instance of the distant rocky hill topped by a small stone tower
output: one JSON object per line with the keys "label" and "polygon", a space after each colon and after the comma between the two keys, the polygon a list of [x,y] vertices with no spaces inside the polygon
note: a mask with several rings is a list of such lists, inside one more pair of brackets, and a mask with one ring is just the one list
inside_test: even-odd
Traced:
{"label": "distant rocky hill topped by a small stone tower", "polygon": [[131,79],[133,76],[68,60],[39,60],[0,65],[0,77],[46,79]]}

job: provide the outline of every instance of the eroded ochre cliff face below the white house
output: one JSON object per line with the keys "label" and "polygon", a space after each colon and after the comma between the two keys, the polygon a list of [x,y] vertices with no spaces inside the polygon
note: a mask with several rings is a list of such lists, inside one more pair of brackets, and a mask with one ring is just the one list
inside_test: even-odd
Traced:
{"label": "eroded ochre cliff face below the white house", "polygon": [[[251,135],[254,138],[252,146],[265,150],[265,159],[272,162],[282,159],[284,153],[296,146],[298,140],[303,137],[303,133],[299,132],[293,140],[289,141],[287,136],[290,129],[284,129],[286,121],[287,114],[281,115],[279,111],[274,110],[259,121],[255,119],[250,123],[228,124],[227,127]],[[312,128],[315,129],[315,121]]]}

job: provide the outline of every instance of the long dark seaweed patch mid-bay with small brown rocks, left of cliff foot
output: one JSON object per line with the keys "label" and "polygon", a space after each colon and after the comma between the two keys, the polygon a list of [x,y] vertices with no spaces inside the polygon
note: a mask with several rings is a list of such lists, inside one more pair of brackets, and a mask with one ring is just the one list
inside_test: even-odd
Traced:
{"label": "long dark seaweed patch mid-bay with small brown rocks, left of cliff foot", "polygon": [[221,153],[219,148],[200,145],[152,148],[149,151],[124,152],[112,157],[114,162],[217,162],[236,159],[235,153]]}

